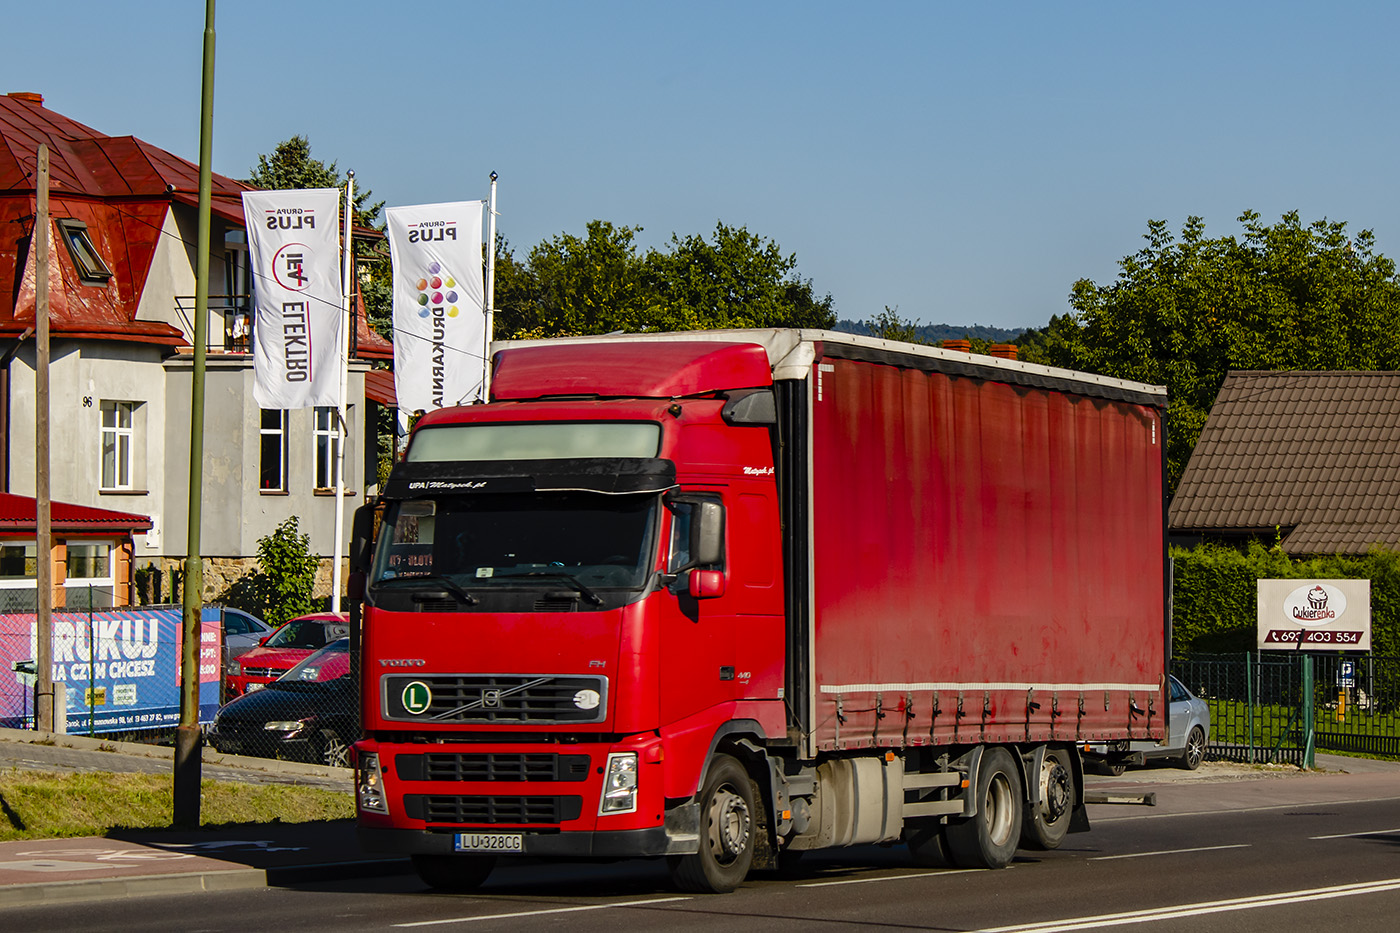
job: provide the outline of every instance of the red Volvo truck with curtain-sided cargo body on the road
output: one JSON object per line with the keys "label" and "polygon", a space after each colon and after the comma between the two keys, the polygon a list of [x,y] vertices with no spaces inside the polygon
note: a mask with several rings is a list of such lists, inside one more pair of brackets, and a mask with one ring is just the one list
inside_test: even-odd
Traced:
{"label": "red Volvo truck with curtain-sided cargo body on the road", "polygon": [[356,520],[361,842],[444,888],[1005,866],[1168,712],[1165,391],[825,331],[497,345]]}

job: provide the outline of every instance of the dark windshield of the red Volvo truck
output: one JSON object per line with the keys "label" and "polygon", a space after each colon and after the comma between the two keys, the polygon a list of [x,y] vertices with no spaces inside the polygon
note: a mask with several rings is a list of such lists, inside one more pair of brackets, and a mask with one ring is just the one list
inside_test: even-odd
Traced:
{"label": "dark windshield of the red Volvo truck", "polygon": [[568,577],[594,588],[640,587],[655,511],[655,496],[587,492],[402,502],[385,516],[371,586],[437,577],[479,590]]}

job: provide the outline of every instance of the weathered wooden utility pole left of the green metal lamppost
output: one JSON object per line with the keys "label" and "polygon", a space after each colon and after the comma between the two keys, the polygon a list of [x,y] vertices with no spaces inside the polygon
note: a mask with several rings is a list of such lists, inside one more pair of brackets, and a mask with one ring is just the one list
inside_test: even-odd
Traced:
{"label": "weathered wooden utility pole left of the green metal lamppost", "polygon": [[38,657],[35,658],[34,727],[52,733],[53,709],[53,510],[49,500],[49,147],[39,143],[34,219],[34,504],[35,597]]}

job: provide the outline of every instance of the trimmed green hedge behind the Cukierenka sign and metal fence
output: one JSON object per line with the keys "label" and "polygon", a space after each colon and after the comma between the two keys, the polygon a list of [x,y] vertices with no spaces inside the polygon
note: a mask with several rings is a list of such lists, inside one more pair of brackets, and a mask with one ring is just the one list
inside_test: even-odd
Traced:
{"label": "trimmed green hedge behind the Cukierenka sign and metal fence", "polygon": [[1259,615],[1257,580],[1371,580],[1371,653],[1400,656],[1400,552],[1294,560],[1252,542],[1243,553],[1222,545],[1172,548],[1172,651],[1252,651]]}

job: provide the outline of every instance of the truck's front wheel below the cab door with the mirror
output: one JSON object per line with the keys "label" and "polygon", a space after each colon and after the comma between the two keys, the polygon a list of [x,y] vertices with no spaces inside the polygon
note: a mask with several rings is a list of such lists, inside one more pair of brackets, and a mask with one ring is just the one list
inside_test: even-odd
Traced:
{"label": "truck's front wheel below the cab door with the mirror", "polygon": [[749,772],[729,755],[715,755],[700,789],[700,852],[671,856],[671,880],[682,891],[728,894],[753,863],[755,790]]}

